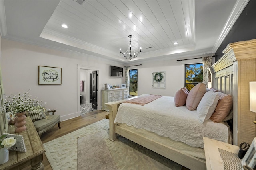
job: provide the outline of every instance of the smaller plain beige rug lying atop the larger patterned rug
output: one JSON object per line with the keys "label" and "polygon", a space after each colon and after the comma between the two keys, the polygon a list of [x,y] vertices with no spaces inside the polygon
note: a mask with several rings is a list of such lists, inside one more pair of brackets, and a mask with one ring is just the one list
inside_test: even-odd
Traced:
{"label": "smaller plain beige rug lying atop the larger patterned rug", "polygon": [[77,148],[78,170],[117,170],[100,132],[78,137]]}

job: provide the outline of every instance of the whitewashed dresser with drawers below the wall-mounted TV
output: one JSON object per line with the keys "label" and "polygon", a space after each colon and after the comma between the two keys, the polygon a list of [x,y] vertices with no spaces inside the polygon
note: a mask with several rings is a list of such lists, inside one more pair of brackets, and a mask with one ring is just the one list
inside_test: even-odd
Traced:
{"label": "whitewashed dresser with drawers below the wall-mounted TV", "polygon": [[109,111],[105,103],[127,99],[128,92],[129,92],[128,88],[102,90],[102,110]]}

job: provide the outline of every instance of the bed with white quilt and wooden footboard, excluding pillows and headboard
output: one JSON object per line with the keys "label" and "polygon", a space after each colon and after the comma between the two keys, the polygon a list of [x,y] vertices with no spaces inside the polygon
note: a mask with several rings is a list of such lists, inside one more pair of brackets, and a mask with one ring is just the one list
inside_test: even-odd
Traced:
{"label": "bed with white quilt and wooden footboard, excluding pillows and headboard", "polygon": [[[197,110],[176,107],[174,97],[160,96],[147,104],[134,104],[150,96],[155,95],[144,94],[106,104],[110,106],[111,140],[116,139],[117,133],[182,166],[200,170],[206,169],[203,136],[231,143],[226,122],[207,119],[201,123]],[[118,110],[113,111],[116,106]]]}

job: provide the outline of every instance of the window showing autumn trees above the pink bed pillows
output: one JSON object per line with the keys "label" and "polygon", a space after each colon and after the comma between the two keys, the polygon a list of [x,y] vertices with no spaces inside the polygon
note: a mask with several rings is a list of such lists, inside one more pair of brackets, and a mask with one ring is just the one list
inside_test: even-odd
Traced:
{"label": "window showing autumn trees above the pink bed pillows", "polygon": [[203,64],[185,64],[185,87],[191,90],[201,82],[203,82]]}

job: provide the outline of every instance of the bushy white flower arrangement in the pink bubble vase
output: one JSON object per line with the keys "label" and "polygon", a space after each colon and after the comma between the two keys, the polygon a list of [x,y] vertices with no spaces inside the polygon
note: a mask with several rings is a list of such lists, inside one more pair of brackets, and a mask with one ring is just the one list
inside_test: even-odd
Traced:
{"label": "bushy white flower arrangement in the pink bubble vase", "polygon": [[[30,90],[31,89],[29,89],[28,91]],[[22,113],[27,110],[33,110],[36,106],[42,106],[42,104],[46,104],[41,104],[42,101],[36,100],[37,98],[31,99],[31,95],[30,93],[28,93],[28,91],[23,92],[22,95],[19,93],[18,96],[11,94],[13,97],[3,94],[7,97],[7,99],[1,98],[1,100],[4,102],[4,107],[2,107],[1,110],[7,111],[8,114],[15,114]]]}

